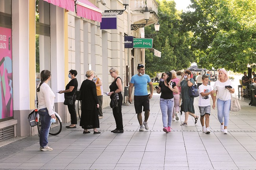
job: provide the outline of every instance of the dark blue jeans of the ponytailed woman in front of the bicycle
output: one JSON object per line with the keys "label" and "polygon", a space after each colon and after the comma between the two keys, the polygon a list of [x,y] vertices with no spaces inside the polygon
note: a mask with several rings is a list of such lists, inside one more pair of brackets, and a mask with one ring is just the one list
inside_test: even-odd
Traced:
{"label": "dark blue jeans of the ponytailed woman in front of the bicycle", "polygon": [[50,131],[50,126],[52,124],[51,116],[49,115],[48,110],[46,108],[40,109],[38,111],[38,114],[40,115],[41,121],[39,144],[40,147],[45,147],[48,144],[48,135]]}

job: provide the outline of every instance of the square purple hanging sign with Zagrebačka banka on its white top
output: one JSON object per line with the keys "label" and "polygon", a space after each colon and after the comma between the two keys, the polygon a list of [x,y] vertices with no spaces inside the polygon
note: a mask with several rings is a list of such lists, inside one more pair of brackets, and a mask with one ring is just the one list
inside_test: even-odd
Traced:
{"label": "square purple hanging sign with Zagreba\u010dka banka on its white top", "polygon": [[101,13],[100,30],[117,30],[117,13]]}

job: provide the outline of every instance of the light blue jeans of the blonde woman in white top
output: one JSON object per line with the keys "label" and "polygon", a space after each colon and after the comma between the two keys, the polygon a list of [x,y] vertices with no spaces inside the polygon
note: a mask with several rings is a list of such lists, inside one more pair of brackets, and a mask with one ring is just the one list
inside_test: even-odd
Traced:
{"label": "light blue jeans of the blonde woman in white top", "polygon": [[224,117],[224,126],[228,126],[230,104],[231,100],[217,100],[218,119],[219,122],[222,123]]}

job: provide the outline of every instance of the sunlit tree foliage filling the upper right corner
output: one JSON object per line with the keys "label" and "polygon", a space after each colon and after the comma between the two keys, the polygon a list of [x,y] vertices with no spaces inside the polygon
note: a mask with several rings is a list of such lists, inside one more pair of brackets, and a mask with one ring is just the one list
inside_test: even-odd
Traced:
{"label": "sunlit tree foliage filling the upper right corner", "polygon": [[205,68],[243,72],[256,63],[255,0],[191,0],[182,31],[192,31],[191,50]]}

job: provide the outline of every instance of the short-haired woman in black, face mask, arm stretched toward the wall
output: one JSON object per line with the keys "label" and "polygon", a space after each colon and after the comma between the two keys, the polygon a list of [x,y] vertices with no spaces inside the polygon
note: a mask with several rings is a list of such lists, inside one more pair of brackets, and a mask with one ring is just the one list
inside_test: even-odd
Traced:
{"label": "short-haired woman in black, face mask, arm stretched toward the wall", "polygon": [[[67,96],[73,96],[75,94],[75,92],[77,91],[77,87],[78,87],[76,75],[77,75],[76,70],[69,71],[68,76],[71,80],[66,85],[65,91],[59,91],[60,94],[65,93],[65,95],[67,95]],[[75,102],[76,102],[76,94],[73,97],[73,104],[67,105],[68,109],[69,109],[70,118],[71,118],[71,124],[69,126],[66,126],[67,128],[76,128],[77,118],[76,118]]]}

